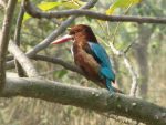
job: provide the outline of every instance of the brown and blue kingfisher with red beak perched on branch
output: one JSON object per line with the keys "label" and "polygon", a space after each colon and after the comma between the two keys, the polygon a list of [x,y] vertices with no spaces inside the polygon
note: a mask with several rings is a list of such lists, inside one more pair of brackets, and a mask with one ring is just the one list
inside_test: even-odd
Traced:
{"label": "brown and blue kingfisher with red beak perched on branch", "polygon": [[115,73],[110,58],[89,25],[77,24],[72,27],[69,34],[55,40],[52,44],[68,41],[73,42],[71,50],[74,62],[87,80],[107,88],[111,94],[114,94],[114,92],[122,93],[112,85],[112,83],[115,83]]}

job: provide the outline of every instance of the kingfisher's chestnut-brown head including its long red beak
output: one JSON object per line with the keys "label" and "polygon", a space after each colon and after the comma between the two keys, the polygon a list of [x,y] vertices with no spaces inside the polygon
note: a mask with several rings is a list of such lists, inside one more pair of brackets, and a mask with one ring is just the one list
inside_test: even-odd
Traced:
{"label": "kingfisher's chestnut-brown head including its long red beak", "polygon": [[69,41],[79,41],[85,39],[86,41],[97,42],[92,29],[85,24],[77,24],[71,28],[69,34],[55,40],[52,44],[64,43]]}

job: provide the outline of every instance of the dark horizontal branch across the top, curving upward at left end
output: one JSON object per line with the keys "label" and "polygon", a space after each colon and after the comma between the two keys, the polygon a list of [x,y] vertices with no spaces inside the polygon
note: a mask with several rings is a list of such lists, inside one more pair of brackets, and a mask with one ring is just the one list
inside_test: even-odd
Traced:
{"label": "dark horizontal branch across the top, curving upward at left end", "polygon": [[76,17],[90,17],[93,19],[98,19],[103,21],[112,22],[137,22],[137,23],[159,23],[166,24],[166,18],[149,18],[149,17],[129,17],[129,15],[106,15],[104,13],[94,12],[90,10],[61,10],[61,11],[50,11],[43,12],[34,7],[31,2],[27,2],[25,10],[29,14],[34,18],[64,18],[69,15]]}

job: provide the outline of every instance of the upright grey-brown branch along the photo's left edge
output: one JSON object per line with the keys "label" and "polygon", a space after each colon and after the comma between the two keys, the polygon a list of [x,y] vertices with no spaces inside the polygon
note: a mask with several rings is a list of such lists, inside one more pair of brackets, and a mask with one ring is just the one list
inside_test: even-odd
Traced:
{"label": "upright grey-brown branch along the photo's left edge", "polygon": [[0,90],[3,88],[6,83],[6,55],[7,55],[7,49],[10,38],[10,29],[12,23],[12,17],[14,12],[14,8],[17,4],[17,0],[9,0],[3,25],[2,25],[2,32],[0,38]]}

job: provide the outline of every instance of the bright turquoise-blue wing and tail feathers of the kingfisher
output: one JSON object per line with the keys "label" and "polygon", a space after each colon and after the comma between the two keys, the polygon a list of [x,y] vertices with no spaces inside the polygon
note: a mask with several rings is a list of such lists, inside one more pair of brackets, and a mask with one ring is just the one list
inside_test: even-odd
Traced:
{"label": "bright turquoise-blue wing and tail feathers of the kingfisher", "polygon": [[106,80],[106,87],[111,92],[114,92],[114,88],[112,87],[111,81],[113,81],[113,82],[115,81],[115,74],[112,70],[111,61],[108,59],[106,51],[98,43],[89,42],[89,45],[91,48],[91,51],[93,52],[94,59],[101,65],[101,70],[100,70],[101,77],[104,77]]}

